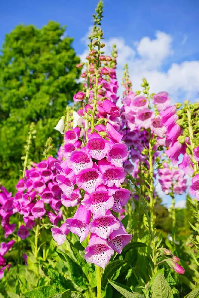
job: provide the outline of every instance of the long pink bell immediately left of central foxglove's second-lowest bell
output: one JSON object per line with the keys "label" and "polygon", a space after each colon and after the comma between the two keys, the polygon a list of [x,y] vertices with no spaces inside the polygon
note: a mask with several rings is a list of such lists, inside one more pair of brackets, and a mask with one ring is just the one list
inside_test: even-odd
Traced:
{"label": "long pink bell immediately left of central foxglove's second-lowest bell", "polygon": [[79,236],[80,242],[86,239],[89,234],[88,224],[91,220],[91,211],[80,205],[73,218],[66,220],[67,228]]}

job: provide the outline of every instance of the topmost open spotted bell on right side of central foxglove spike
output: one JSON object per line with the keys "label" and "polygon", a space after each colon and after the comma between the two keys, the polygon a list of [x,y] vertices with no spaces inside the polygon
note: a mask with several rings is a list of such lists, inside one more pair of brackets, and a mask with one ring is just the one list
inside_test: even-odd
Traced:
{"label": "topmost open spotted bell on right side of central foxglove spike", "polygon": [[128,147],[125,144],[114,144],[107,153],[107,161],[116,167],[122,167],[128,155]]}

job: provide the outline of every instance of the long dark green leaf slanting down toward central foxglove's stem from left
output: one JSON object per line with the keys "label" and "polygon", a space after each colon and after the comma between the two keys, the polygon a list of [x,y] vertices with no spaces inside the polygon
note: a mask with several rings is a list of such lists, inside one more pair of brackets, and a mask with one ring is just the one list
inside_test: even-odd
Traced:
{"label": "long dark green leaf slanting down toward central foxglove's stem from left", "polygon": [[59,249],[56,249],[57,254],[59,255],[60,259],[62,260],[63,264],[68,268],[71,274],[71,280],[76,285],[76,289],[78,291],[83,291],[87,289],[87,280],[85,275],[82,271],[81,266],[75,263],[67,254],[62,252]]}

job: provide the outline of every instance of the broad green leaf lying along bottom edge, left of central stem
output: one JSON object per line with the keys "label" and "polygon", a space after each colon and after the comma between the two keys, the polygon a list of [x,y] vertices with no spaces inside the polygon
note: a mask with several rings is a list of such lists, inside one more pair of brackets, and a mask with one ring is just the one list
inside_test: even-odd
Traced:
{"label": "broad green leaf lying along bottom edge, left of central stem", "polygon": [[23,295],[25,298],[70,298],[71,290],[45,285],[35,288]]}

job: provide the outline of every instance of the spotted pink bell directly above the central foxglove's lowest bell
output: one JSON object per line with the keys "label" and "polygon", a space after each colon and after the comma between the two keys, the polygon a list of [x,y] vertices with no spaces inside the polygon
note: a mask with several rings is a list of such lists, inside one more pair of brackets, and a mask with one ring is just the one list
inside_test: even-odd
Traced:
{"label": "spotted pink bell directly above the central foxglove's lowest bell", "polygon": [[93,216],[93,220],[88,225],[91,233],[106,239],[114,231],[119,229],[120,223],[116,217],[108,210],[105,216]]}

